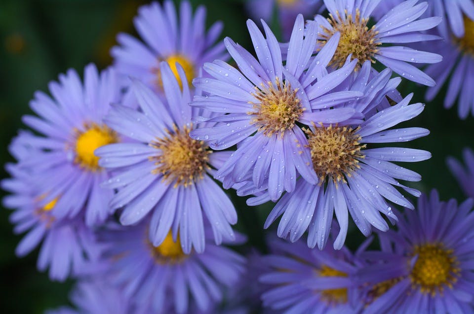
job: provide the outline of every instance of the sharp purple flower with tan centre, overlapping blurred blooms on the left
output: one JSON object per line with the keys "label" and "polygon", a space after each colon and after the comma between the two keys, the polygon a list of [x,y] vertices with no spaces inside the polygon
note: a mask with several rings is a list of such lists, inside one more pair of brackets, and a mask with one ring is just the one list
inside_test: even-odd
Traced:
{"label": "sharp purple flower with tan centre, overlapping blurred blooms on the left", "polygon": [[204,114],[192,108],[191,94],[184,70],[178,65],[182,88],[166,62],[160,65],[165,100],[143,83],[134,80],[132,91],[141,111],[115,105],[105,118],[107,125],[128,138],[127,143],[101,147],[99,164],[114,176],[103,186],[118,189],[112,209],[124,207],[123,225],[140,221],[153,212],[150,241],[160,244],[172,228],[186,253],[191,248],[204,250],[204,217],[212,225],[216,244],[233,238],[231,224],[237,222],[234,205],[208,175],[219,166],[228,152],[213,153],[203,140],[193,140],[193,116]]}

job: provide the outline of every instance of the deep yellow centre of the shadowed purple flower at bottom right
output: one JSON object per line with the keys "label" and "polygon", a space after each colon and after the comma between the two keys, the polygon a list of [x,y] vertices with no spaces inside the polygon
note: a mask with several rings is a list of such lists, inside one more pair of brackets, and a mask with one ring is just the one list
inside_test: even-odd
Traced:
{"label": "deep yellow centre of the shadowed purple flower at bottom right", "polygon": [[418,255],[410,279],[423,293],[434,295],[442,292],[444,286],[452,288],[459,277],[459,262],[453,250],[442,244],[423,244],[416,246],[413,255]]}

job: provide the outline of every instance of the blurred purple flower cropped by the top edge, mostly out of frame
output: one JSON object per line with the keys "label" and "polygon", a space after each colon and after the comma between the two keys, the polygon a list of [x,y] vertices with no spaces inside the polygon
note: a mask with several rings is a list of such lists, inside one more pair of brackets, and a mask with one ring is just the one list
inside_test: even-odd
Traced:
{"label": "blurred purple flower cropped by the top edge, mostly out of frame", "polygon": [[313,17],[324,9],[322,0],[253,0],[246,1],[246,7],[253,19],[272,22],[276,10],[283,38],[289,39],[296,16],[303,13],[305,17]]}

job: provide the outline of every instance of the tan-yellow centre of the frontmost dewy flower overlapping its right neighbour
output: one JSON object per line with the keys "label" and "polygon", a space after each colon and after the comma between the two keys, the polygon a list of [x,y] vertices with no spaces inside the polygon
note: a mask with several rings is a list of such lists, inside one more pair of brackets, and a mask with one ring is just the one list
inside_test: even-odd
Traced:
{"label": "tan-yellow centre of the frontmost dewy flower overlapping its right neighbour", "polygon": [[289,82],[280,82],[276,78],[276,86],[268,83],[269,87],[258,89],[252,95],[259,103],[252,103],[254,112],[248,114],[254,115],[252,122],[259,127],[259,131],[271,136],[274,133],[283,134],[292,129],[296,121],[303,114],[303,107],[300,100],[296,97],[298,89],[291,89]]}

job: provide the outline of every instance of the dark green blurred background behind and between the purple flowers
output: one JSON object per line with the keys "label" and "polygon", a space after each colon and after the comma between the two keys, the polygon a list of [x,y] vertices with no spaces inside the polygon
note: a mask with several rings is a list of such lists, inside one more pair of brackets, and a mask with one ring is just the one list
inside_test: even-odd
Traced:
{"label": "dark green blurred background behind and between the purple flowers", "polygon": [[[251,0],[250,0],[251,1]],[[18,129],[24,126],[21,116],[31,113],[28,106],[36,90],[47,91],[50,80],[59,73],[94,62],[99,69],[111,64],[110,48],[119,32],[135,34],[133,17],[144,0],[1,0],[0,1],[0,158],[1,164],[12,162],[7,146]],[[176,1],[179,2],[179,1]],[[230,36],[249,48],[245,27],[248,14],[245,0],[191,0],[193,6],[207,6],[207,24],[224,22],[224,36]],[[277,29],[271,23],[273,29]],[[276,31],[277,35],[279,31]],[[253,51],[253,50],[251,50]],[[403,96],[415,93],[413,102],[423,102],[425,88],[403,81]],[[464,198],[455,179],[446,168],[446,157],[459,158],[465,146],[473,146],[473,118],[459,120],[456,108],[445,110],[442,99],[427,104],[425,111],[404,126],[428,128],[431,135],[415,140],[406,147],[432,152],[432,159],[406,165],[423,176],[422,182],[410,183],[424,192],[437,188],[442,199]],[[403,165],[405,166],[405,165]],[[1,178],[6,173],[1,167]],[[237,230],[246,233],[249,245],[265,250],[263,221],[271,209],[264,205],[248,208],[245,200],[233,196],[239,222]],[[1,196],[4,192],[1,192]],[[4,313],[43,313],[46,309],[67,305],[72,281],[49,281],[47,274],[36,270],[38,250],[26,258],[14,254],[20,235],[12,233],[9,211],[0,209],[0,304]],[[354,228],[353,228],[354,229]],[[270,231],[271,232],[271,231]],[[268,232],[268,233],[270,233]],[[267,232],[265,232],[267,233]],[[349,237],[349,246],[356,247],[363,238],[357,231]],[[350,240],[349,240],[350,239]]]}

